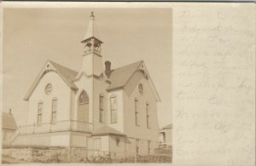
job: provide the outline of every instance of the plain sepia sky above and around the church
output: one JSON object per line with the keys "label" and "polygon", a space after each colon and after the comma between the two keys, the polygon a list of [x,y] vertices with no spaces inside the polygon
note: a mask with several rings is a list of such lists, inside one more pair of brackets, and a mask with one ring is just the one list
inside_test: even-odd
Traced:
{"label": "plain sepia sky above and around the church", "polygon": [[[93,11],[102,62],[144,60],[157,89],[160,127],[172,123],[172,9],[3,9],[3,112],[26,124],[26,92],[46,60],[79,71]],[[102,64],[103,65],[103,64]]]}

